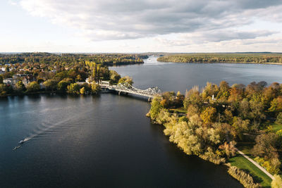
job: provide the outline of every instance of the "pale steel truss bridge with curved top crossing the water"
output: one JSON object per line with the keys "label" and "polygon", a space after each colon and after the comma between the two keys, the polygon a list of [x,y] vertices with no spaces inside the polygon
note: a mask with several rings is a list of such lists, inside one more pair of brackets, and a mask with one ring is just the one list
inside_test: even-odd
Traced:
{"label": "pale steel truss bridge with curved top crossing the water", "polygon": [[118,92],[118,94],[135,94],[138,96],[148,97],[149,99],[152,99],[154,96],[162,93],[158,87],[150,87],[148,89],[142,90],[137,89],[128,83],[122,83],[117,85],[100,84],[100,87]]}

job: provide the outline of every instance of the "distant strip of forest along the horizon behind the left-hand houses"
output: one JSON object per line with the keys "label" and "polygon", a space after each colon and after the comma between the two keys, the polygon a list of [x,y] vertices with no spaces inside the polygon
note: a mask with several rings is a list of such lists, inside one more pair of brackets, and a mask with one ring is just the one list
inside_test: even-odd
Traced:
{"label": "distant strip of forest along the horizon behind the left-hand houses", "polygon": [[49,54],[49,53],[23,53],[0,54],[0,65],[15,63],[40,63],[47,65],[73,66],[85,61],[94,61],[102,65],[128,65],[144,63],[144,54]]}

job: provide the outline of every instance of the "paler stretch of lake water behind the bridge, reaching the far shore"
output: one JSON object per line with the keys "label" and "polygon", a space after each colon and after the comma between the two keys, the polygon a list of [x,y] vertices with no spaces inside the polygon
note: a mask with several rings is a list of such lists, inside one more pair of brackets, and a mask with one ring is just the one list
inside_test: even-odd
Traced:
{"label": "paler stretch of lake water behind the bridge, reaching the far shore", "polygon": [[157,86],[163,91],[185,92],[194,85],[200,88],[207,82],[230,85],[266,81],[282,83],[282,65],[240,63],[165,63],[149,57],[141,65],[111,67],[122,76],[133,77],[135,87],[145,89]]}

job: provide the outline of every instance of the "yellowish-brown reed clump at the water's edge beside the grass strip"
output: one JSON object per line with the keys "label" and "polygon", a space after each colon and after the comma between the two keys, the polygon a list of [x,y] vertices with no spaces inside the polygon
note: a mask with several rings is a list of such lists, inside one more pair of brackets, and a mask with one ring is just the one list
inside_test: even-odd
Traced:
{"label": "yellowish-brown reed clump at the water's edge beside the grass strip", "polygon": [[235,166],[231,166],[231,168],[228,169],[228,173],[236,180],[238,180],[241,184],[243,184],[244,187],[247,188],[260,187],[258,183],[254,182],[252,176],[250,176],[249,174],[245,173],[243,170],[240,170]]}

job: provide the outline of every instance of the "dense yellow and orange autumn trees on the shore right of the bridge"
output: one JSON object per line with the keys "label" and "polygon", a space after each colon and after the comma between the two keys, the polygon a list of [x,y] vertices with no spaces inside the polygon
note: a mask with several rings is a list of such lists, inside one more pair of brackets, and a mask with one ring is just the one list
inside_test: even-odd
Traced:
{"label": "dense yellow and orange autumn trees on the shore right of the bridge", "polygon": [[[269,124],[281,123],[282,84],[274,82],[229,84],[207,83],[202,92],[193,87],[185,95],[165,92],[152,100],[149,116],[164,125],[164,134],[188,155],[216,164],[235,156],[236,142],[254,142],[252,156],[272,174],[281,173],[282,130]],[[187,113],[171,113],[180,108]],[[177,112],[177,111],[176,111]]]}

